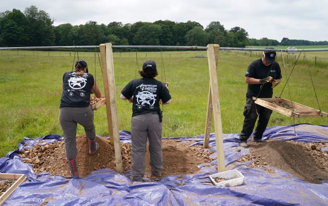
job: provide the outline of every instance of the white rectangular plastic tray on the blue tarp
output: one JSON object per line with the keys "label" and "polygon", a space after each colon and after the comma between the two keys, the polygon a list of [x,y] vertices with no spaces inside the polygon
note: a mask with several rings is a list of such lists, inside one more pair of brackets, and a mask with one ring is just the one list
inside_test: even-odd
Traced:
{"label": "white rectangular plastic tray on the blue tarp", "polygon": [[[215,179],[224,179],[216,182]],[[210,175],[210,179],[215,186],[233,187],[244,183],[244,176],[238,170],[228,170]]]}

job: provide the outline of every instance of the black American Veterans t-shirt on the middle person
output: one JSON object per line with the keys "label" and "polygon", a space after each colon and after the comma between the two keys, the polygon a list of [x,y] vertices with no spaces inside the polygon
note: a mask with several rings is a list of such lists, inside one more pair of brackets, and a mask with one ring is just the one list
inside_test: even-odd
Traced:
{"label": "black American Veterans t-shirt on the middle person", "polygon": [[121,94],[130,99],[133,96],[132,116],[160,111],[159,99],[171,99],[168,88],[154,78],[140,78],[130,81]]}

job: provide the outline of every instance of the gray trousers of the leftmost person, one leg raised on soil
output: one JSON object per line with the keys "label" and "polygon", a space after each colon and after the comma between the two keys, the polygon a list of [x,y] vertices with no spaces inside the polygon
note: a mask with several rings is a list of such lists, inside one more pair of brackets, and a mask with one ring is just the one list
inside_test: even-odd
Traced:
{"label": "gray trousers of the leftmost person, one leg raised on soil", "polygon": [[94,140],[96,138],[96,131],[93,124],[93,111],[90,106],[81,108],[59,108],[59,122],[61,129],[64,132],[66,157],[68,160],[72,160],[77,156],[77,124],[84,127],[86,135],[90,140]]}

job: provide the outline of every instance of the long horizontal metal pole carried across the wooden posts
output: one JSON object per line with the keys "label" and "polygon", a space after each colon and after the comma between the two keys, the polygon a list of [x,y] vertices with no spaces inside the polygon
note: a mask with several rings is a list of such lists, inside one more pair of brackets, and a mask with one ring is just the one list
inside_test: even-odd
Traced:
{"label": "long horizontal metal pole carried across the wooden posts", "polygon": [[[207,50],[208,47],[198,46],[112,46],[114,49],[186,49],[186,50]],[[56,50],[56,49],[96,49],[99,46],[51,46],[51,47],[0,47],[0,50]],[[261,49],[261,48],[234,48],[234,47],[220,47],[219,50],[233,50],[233,51],[280,51],[287,53],[296,53],[301,51],[328,51],[326,49]]]}

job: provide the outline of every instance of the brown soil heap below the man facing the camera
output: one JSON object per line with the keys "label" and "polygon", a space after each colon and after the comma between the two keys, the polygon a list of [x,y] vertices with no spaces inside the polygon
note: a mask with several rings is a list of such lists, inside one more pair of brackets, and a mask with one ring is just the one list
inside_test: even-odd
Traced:
{"label": "brown soil heap below the man facing the camera", "polygon": [[328,180],[328,153],[321,151],[321,148],[327,147],[325,142],[269,139],[267,142],[250,142],[248,145],[250,153],[238,160],[252,161],[248,167],[264,168],[272,173],[275,172],[272,168],[276,168],[310,183]]}

